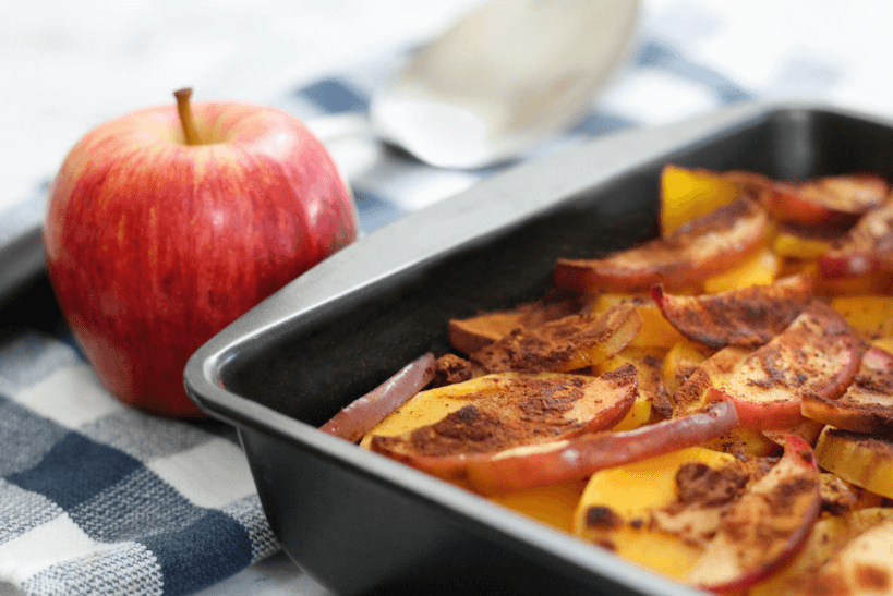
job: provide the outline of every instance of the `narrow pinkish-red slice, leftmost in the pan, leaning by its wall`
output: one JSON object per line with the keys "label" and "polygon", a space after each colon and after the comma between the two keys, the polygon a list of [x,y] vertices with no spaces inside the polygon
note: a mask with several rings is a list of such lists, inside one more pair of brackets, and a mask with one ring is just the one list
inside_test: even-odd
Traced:
{"label": "narrow pinkish-red slice, leftmost in the pan, leaning by its wall", "polygon": [[427,353],[403,366],[385,382],[341,409],[319,430],[357,442],[373,426],[400,408],[434,379],[434,354]]}

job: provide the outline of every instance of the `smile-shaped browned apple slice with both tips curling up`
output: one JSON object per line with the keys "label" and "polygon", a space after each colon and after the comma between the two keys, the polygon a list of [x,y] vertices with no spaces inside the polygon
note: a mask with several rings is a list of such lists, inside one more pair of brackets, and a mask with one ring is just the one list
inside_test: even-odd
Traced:
{"label": "smile-shaped browned apple slice with both tips curling up", "polygon": [[664,317],[680,333],[721,350],[726,345],[758,348],[785,330],[812,301],[809,276],[791,276],[772,285],[751,285],[719,294],[668,294],[651,290]]}

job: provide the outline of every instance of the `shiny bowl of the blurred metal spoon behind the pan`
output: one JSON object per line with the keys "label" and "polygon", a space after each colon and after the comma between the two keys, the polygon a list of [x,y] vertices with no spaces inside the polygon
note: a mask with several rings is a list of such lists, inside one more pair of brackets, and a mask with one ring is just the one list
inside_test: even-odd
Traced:
{"label": "shiny bowl of the blurred metal spoon behind the pan", "polygon": [[373,94],[383,139],[444,168],[523,154],[581,115],[629,50],[639,0],[496,0]]}

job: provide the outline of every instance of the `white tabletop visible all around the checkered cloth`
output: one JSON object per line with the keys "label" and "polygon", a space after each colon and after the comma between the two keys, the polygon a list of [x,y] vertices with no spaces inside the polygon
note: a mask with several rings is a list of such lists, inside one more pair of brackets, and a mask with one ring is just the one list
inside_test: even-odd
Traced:
{"label": "white tabletop visible all around the checkered cloth", "polygon": [[[266,104],[372,53],[422,42],[480,0],[4,0],[0,2],[0,210],[34,195],[96,124],[192,86]],[[893,118],[886,0],[644,0],[642,29],[764,98],[807,98]],[[636,112],[649,82],[602,101]],[[690,93],[697,94],[697,90]],[[709,102],[704,102],[707,106]],[[668,95],[645,124],[699,110]],[[707,109],[707,108],[704,108]],[[337,157],[337,154],[336,154]],[[202,591],[315,595],[278,555]]]}

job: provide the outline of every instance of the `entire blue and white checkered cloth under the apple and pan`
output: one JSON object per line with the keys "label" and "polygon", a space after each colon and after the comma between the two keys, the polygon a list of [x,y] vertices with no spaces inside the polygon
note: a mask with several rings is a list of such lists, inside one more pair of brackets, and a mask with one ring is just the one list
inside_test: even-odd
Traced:
{"label": "entire blue and white checkered cloth under the apple and pan", "polygon": [[[363,112],[401,58],[357,64],[270,104],[310,122]],[[644,38],[599,108],[529,157],[651,124],[667,106],[684,117],[749,97],[673,45]],[[364,233],[500,169],[439,170],[372,139],[331,148]],[[0,214],[0,234],[41,214],[39,197]],[[2,338],[0,594],[190,594],[278,550],[231,433],[121,405],[64,335]]]}

